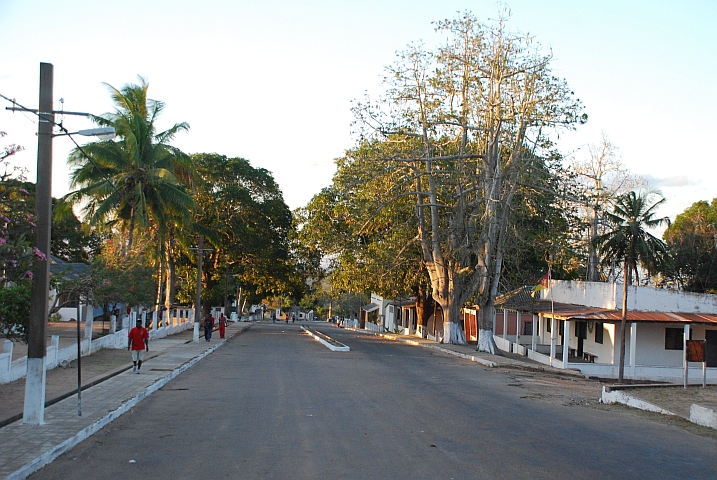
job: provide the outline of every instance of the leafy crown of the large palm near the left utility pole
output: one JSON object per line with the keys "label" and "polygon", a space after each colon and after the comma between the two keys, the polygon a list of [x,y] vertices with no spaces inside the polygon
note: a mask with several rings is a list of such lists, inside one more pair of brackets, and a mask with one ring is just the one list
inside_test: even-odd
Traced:
{"label": "leafy crown of the large palm near the left utility pole", "polygon": [[93,119],[114,127],[119,141],[94,142],[70,153],[68,163],[75,167],[70,186],[76,190],[63,199],[66,206],[85,202],[90,224],[119,226],[127,235],[126,251],[137,225],[162,235],[171,214],[188,215],[196,206],[187,189],[194,176],[191,157],[170,145],[189,126],[177,123],[157,133],[164,103],[147,98],[149,84],[139,80],[121,90],[107,85],[115,112]]}

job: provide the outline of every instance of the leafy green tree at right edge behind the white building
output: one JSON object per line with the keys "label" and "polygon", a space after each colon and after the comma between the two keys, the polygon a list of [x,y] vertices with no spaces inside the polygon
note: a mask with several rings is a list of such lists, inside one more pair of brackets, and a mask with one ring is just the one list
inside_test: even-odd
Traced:
{"label": "leafy green tree at right edge behind the white building", "polygon": [[693,203],[662,238],[671,257],[665,280],[688,292],[717,293],[717,198]]}

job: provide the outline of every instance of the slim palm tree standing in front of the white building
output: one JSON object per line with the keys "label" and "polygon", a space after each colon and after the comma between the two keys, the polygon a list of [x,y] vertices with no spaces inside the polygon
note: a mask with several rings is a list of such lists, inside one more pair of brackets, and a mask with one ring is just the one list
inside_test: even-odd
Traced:
{"label": "slim palm tree standing in front of the white building", "polygon": [[625,372],[625,329],[627,325],[627,287],[632,283],[632,273],[639,283],[638,264],[645,268],[648,275],[667,261],[665,242],[647,232],[646,228],[669,225],[667,217],[655,218],[655,211],[665,202],[660,199],[650,203],[653,192],[629,192],[615,199],[612,213],[607,219],[613,225],[611,231],[595,238],[594,245],[605,260],[622,259],[624,282],[622,291],[622,333],[620,335],[620,369],[618,382],[622,383]]}

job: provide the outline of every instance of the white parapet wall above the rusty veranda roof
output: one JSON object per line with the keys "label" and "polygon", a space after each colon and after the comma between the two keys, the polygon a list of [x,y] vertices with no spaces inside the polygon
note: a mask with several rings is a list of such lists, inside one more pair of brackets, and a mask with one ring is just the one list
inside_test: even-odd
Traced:
{"label": "white parapet wall above the rusty veranda roof", "polygon": [[[596,308],[621,308],[622,285],[604,282],[551,280],[542,291],[544,299]],[[644,312],[682,312],[717,314],[717,295],[676,292],[651,287],[630,286],[627,308]]]}

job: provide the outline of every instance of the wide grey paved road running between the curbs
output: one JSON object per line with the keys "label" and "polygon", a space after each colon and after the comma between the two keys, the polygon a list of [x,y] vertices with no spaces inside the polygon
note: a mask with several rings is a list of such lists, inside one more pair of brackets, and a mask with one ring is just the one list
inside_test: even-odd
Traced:
{"label": "wide grey paved road running between the curbs", "polygon": [[321,329],[351,352],[255,325],[32,478],[717,478],[715,440]]}

